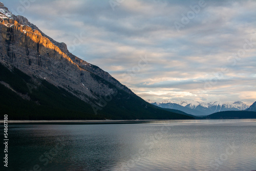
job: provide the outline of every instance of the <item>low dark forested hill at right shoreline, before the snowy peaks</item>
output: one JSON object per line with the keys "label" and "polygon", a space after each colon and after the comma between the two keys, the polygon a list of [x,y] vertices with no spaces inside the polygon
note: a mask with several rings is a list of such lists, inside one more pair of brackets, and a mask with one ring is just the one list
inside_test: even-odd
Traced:
{"label": "low dark forested hill at right shoreline, before the snowy peaks", "polygon": [[256,112],[252,111],[223,111],[205,117],[206,119],[255,119]]}

